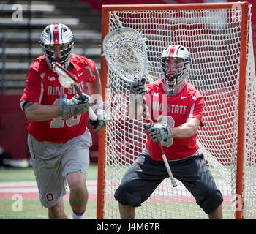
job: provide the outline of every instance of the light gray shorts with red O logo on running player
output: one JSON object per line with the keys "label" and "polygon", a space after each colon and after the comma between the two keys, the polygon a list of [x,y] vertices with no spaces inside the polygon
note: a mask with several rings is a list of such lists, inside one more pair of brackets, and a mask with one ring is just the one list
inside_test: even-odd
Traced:
{"label": "light gray shorts with red O logo on running player", "polygon": [[91,146],[91,134],[87,131],[67,143],[39,142],[28,136],[42,206],[56,205],[67,193],[67,174],[80,171],[87,176]]}

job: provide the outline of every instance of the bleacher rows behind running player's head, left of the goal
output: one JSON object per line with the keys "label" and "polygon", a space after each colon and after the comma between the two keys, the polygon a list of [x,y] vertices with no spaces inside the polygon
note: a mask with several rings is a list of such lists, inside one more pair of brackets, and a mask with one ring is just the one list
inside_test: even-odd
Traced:
{"label": "bleacher rows behind running player's head, left of the goal", "polygon": [[[22,20],[15,20],[18,17],[15,4],[21,6]],[[42,53],[39,35],[50,23],[67,24],[75,36],[74,53],[93,59],[100,69],[99,10],[91,10],[89,4],[79,0],[1,1],[1,91],[23,90],[30,64]]]}

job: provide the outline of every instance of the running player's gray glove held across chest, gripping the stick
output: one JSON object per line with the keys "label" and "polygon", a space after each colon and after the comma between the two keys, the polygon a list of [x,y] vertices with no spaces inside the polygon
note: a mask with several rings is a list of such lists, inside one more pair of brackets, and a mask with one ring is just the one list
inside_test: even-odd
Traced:
{"label": "running player's gray glove held across chest, gripping the stick", "polygon": [[61,94],[59,99],[61,117],[69,119],[72,116],[78,116],[89,110],[89,96],[83,93],[85,100],[82,100],[79,95],[75,95],[72,99],[67,99],[67,94]]}

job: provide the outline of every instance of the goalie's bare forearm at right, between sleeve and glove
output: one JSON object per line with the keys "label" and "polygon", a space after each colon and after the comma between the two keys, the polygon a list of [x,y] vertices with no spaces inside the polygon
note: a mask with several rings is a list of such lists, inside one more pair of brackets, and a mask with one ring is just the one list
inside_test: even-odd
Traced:
{"label": "goalie's bare forearm at right, between sleeve and glove", "polygon": [[178,127],[173,127],[172,137],[174,138],[188,138],[192,137],[197,133],[197,129],[200,125],[198,118],[187,118],[186,123],[181,124]]}

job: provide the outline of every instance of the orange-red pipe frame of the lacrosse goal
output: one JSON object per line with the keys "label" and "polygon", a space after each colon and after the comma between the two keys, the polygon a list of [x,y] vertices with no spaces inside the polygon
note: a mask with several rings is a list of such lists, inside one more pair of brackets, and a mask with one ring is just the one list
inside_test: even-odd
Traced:
{"label": "orange-red pipe frame of the lacrosse goal", "polygon": [[[242,8],[241,19],[241,48],[238,98],[238,139],[237,139],[237,168],[236,168],[236,196],[243,200],[243,174],[244,174],[244,112],[246,95],[246,53],[248,43],[248,2],[227,2],[208,4],[127,4],[102,5],[102,42],[109,31],[110,11],[128,10],[196,10],[196,9],[230,9],[236,4]],[[101,53],[102,54],[102,53]],[[106,88],[108,77],[108,64],[105,57],[101,57],[102,90]],[[105,95],[105,90],[102,91]],[[105,99],[105,96],[104,96]],[[97,219],[103,219],[104,209],[104,178],[105,178],[105,129],[99,131],[99,158],[98,158],[98,191],[97,191]],[[101,182],[101,183],[100,183]],[[236,210],[236,219],[242,219],[242,211]]]}

